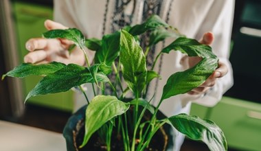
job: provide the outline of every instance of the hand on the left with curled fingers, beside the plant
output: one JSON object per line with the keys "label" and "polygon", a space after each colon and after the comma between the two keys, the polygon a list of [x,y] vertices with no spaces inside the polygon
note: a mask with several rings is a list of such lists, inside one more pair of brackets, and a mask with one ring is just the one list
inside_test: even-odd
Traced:
{"label": "hand on the left with curled fingers, beside the plant", "polygon": [[[47,30],[65,30],[68,27],[54,21],[46,20],[45,28]],[[72,44],[71,40],[61,38],[31,38],[25,44],[26,49],[30,52],[24,57],[24,62],[41,64],[56,61],[65,64],[75,63],[84,65],[84,53],[80,48],[75,47],[69,53],[68,49]],[[91,58],[89,61],[91,61]]]}

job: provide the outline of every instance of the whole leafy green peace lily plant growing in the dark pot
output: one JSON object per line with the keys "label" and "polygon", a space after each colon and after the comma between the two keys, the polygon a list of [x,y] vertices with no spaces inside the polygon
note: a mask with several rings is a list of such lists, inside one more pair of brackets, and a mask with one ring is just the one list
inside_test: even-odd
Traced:
{"label": "whole leafy green peace lily plant growing in the dark pot", "polygon": [[[139,46],[139,36],[144,33],[150,36],[150,43],[145,53]],[[227,150],[227,142],[222,130],[212,121],[186,114],[157,119],[159,106],[164,100],[174,95],[187,93],[201,85],[218,67],[218,58],[212,53],[211,47],[179,34],[176,29],[162,21],[157,15],[151,16],[140,25],[124,27],[120,31],[106,34],[101,40],[86,39],[75,28],[50,30],[43,36],[72,40],[75,44],[71,46],[71,49],[73,47],[82,49],[87,67],[75,64],[65,65],[61,62],[50,62],[44,65],[23,63],[3,75],[2,80],[5,76],[17,78],[24,78],[28,75],[43,76],[42,80],[28,93],[25,101],[36,95],[69,91],[73,87],[80,88],[84,93],[82,84],[92,83],[95,97],[88,100],[88,96],[84,93],[89,105],[86,109],[85,135],[80,148],[87,144],[94,132],[102,131],[103,133],[99,132],[99,134],[105,134],[100,137],[104,137],[106,150],[111,150],[114,128],[122,136],[124,150],[145,150],[155,132],[163,124],[170,124],[190,139],[205,142],[210,150]],[[148,51],[165,38],[175,40],[161,50],[154,60],[152,70],[148,70],[146,67]],[[84,51],[86,47],[95,51],[93,65],[90,65]],[[146,88],[151,80],[160,78],[160,75],[153,71],[157,59],[170,51],[181,51],[188,56],[198,56],[202,59],[194,67],[170,75],[163,87],[159,104],[154,107],[150,105],[152,99],[146,100]],[[118,60],[117,64],[115,60]],[[115,73],[115,81],[108,78],[111,73]],[[121,80],[121,76],[124,80]],[[126,88],[123,86],[124,82],[127,85]],[[106,95],[105,84],[111,86],[112,95]],[[99,95],[95,92],[95,85],[100,89]],[[116,86],[120,88],[120,91],[116,91]],[[125,97],[128,92],[133,94],[133,98],[126,101]],[[130,108],[133,108],[133,116],[129,118],[126,116],[126,112]],[[149,121],[141,120],[146,111],[152,115]],[[131,124],[126,124],[126,121],[130,120],[132,120]]]}

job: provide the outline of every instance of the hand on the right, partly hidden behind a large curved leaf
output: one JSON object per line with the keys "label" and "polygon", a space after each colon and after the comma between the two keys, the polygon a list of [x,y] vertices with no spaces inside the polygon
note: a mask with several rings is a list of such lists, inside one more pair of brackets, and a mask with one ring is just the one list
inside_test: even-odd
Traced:
{"label": "hand on the right, partly hidden behind a large curved leaf", "polygon": [[[202,40],[200,41],[202,44],[211,45],[214,41],[214,35],[211,32],[207,32],[204,34]],[[199,57],[190,57],[189,58],[189,66],[192,67],[196,65],[201,60]],[[218,78],[222,78],[227,74],[228,68],[223,62],[218,62],[218,68],[212,73],[212,75],[207,78],[207,80],[198,86],[197,88],[192,89],[192,91],[188,92],[190,95],[200,95],[206,93],[212,86],[216,84],[216,80]]]}

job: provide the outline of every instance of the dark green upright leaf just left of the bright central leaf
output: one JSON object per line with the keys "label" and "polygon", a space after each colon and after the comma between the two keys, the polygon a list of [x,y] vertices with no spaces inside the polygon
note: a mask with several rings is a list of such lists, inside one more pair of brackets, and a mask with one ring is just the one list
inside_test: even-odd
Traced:
{"label": "dark green upright leaf just left of the bright central leaf", "polygon": [[120,32],[107,34],[102,37],[102,49],[95,53],[95,63],[104,62],[105,65],[111,66],[113,61],[120,54]]}

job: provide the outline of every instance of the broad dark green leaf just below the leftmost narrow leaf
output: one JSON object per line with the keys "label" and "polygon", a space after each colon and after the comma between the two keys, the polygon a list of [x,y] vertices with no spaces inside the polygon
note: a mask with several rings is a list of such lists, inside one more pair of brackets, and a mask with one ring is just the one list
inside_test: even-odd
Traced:
{"label": "broad dark green leaf just below the leftmost narrow leaf", "polygon": [[[104,73],[96,73],[98,82],[108,82],[109,79]],[[69,64],[63,69],[55,73],[45,76],[36,86],[32,89],[25,101],[30,97],[36,95],[45,95],[49,93],[65,92],[74,86],[80,86],[87,82],[95,82],[89,69],[79,65]]]}

